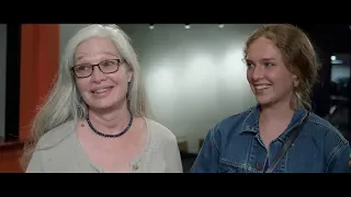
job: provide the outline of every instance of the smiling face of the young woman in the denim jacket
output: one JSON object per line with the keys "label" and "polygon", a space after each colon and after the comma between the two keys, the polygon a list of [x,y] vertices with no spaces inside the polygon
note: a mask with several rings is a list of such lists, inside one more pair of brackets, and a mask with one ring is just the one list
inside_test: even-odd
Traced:
{"label": "smiling face of the young woman in the denim jacket", "polygon": [[271,39],[260,37],[252,42],[246,61],[247,80],[260,105],[290,103],[295,77]]}

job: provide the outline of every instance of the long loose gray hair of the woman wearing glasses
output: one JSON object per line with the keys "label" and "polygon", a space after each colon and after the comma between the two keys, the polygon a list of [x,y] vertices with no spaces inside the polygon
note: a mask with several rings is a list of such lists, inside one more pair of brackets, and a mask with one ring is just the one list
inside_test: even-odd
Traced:
{"label": "long loose gray hair of the woman wearing glasses", "polygon": [[87,116],[87,107],[81,100],[70,69],[73,66],[77,46],[95,36],[110,38],[115,44],[121,57],[126,60],[126,65],[131,67],[133,78],[129,83],[127,107],[136,116],[147,116],[145,90],[139,78],[139,63],[129,37],[114,24],[89,25],[72,36],[66,46],[59,65],[58,79],[33,120],[31,142],[24,146],[21,158],[21,164],[24,169],[30,162],[37,140],[44,134],[68,120],[77,121]]}

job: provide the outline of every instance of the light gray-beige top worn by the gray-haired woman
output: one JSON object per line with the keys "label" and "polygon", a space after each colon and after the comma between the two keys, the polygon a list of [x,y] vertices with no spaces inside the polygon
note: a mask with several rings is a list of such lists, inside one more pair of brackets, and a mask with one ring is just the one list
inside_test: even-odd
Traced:
{"label": "light gray-beige top worn by the gray-haired woman", "polygon": [[[147,143],[131,163],[131,173],[182,173],[176,136],[165,126],[148,119]],[[76,123],[67,121],[46,132],[26,169],[26,173],[103,173],[89,160],[76,134]]]}

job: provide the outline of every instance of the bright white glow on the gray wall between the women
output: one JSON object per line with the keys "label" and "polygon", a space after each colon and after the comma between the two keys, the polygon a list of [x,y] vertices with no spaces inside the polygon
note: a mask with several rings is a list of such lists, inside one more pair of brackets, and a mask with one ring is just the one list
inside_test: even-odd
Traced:
{"label": "bright white glow on the gray wall between the women", "polygon": [[193,152],[199,138],[222,118],[256,103],[246,80],[241,50],[223,57],[194,54],[183,63],[162,60],[145,72],[150,105],[157,120],[178,137],[192,138]]}

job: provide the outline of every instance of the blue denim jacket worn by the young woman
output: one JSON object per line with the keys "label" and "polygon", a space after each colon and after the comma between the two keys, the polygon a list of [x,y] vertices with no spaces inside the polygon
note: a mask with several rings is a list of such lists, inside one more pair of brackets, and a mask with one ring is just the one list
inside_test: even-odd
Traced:
{"label": "blue denim jacket worn by the young woman", "polygon": [[[294,113],[286,130],[268,150],[259,135],[257,105],[227,117],[207,134],[191,173],[262,173],[267,158],[272,161],[287,134],[302,124],[305,108]],[[293,146],[274,173],[344,173],[349,172],[349,142],[327,120],[310,113]]]}

